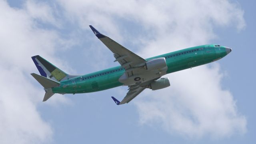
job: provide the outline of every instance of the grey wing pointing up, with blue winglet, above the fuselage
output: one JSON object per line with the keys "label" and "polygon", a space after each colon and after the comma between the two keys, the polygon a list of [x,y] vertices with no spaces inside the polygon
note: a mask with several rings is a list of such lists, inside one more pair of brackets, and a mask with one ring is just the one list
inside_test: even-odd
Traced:
{"label": "grey wing pointing up, with blue winglet, above the fuselage", "polygon": [[119,62],[126,70],[132,67],[143,66],[146,62],[144,58],[141,58],[111,38],[101,34],[93,26],[90,25],[90,28],[98,39],[100,39],[100,41],[102,41],[103,44],[105,44],[114,53],[114,57],[116,58],[114,62]]}

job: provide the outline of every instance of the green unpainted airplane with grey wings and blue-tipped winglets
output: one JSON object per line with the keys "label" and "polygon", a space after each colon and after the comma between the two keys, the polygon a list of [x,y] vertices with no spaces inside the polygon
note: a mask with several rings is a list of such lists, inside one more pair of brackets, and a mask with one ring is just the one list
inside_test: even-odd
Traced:
{"label": "green unpainted airplane with grey wings and blue-tipped winglets", "polygon": [[144,59],[101,34],[93,26],[90,25],[90,28],[113,52],[114,62],[120,66],[85,75],[70,75],[41,56],[32,56],[40,75],[31,75],[44,87],[43,102],[55,93],[80,94],[128,86],[128,92],[121,102],[112,96],[117,105],[126,104],[146,88],[159,90],[170,86],[169,78],[162,76],[214,62],[232,51],[225,46],[208,44]]}

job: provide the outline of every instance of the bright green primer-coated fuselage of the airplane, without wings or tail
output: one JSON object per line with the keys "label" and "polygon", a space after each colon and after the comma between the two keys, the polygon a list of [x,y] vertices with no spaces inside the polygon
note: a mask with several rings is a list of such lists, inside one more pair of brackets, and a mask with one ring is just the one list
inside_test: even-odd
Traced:
{"label": "bright green primer-coated fuselage of the airplane, without wings or tail", "polygon": [[[147,58],[146,60],[165,57],[166,65],[168,67],[167,74],[169,74],[207,64],[215,60],[219,60],[226,55],[227,52],[223,46],[216,47],[214,45],[202,45]],[[124,72],[124,68],[116,66],[98,72],[85,74],[62,81],[59,87],[52,88],[52,92],[77,94],[96,92],[122,86],[123,84],[120,83],[118,79],[124,74]]]}

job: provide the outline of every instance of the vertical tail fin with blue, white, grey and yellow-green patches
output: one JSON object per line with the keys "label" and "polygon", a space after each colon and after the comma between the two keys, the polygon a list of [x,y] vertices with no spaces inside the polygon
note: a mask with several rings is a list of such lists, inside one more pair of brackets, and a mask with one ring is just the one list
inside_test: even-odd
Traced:
{"label": "vertical tail fin with blue, white, grey and yellow-green patches", "polygon": [[50,78],[55,81],[63,81],[67,80],[69,78],[74,78],[76,76],[69,75],[66,72],[60,70],[58,67],[54,66],[41,56],[32,56],[31,57],[33,62],[36,65],[36,68],[40,72],[41,76],[44,76],[46,78]]}

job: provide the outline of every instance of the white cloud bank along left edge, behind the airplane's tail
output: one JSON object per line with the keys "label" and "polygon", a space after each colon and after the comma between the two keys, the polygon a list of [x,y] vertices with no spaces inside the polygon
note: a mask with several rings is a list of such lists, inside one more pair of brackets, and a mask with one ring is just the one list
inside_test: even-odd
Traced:
{"label": "white cloud bank along left edge, behind the airplane's tail", "polygon": [[[52,126],[37,110],[44,91],[30,76],[37,72],[31,56],[42,54],[55,64],[56,47],[62,45],[57,32],[40,28],[38,20],[54,26],[46,5],[28,1],[25,8],[11,8],[0,1],[0,143],[51,142]],[[36,87],[38,86],[38,87]],[[58,100],[56,100],[58,99]],[[67,103],[67,99],[52,98]]]}

